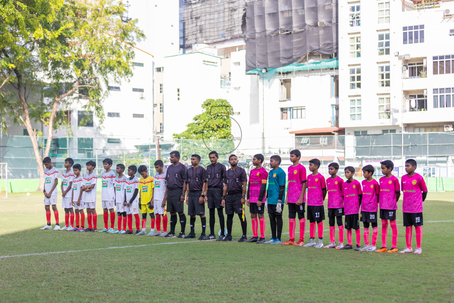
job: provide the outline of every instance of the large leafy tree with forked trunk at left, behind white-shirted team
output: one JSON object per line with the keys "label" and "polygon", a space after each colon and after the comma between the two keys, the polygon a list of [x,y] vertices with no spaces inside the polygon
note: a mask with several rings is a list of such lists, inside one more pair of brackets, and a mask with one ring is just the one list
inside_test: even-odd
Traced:
{"label": "large leafy tree with forked trunk at left, behind white-shirted team", "polygon": [[118,0],[1,1],[0,113],[25,125],[41,177],[43,157],[31,121],[48,129],[47,157],[54,130],[68,121],[62,109],[80,102],[102,124],[109,80],[133,75],[131,46],[145,36],[138,20],[123,22],[124,13]]}

